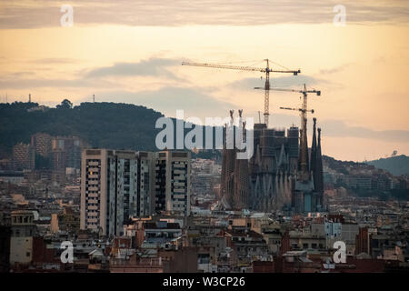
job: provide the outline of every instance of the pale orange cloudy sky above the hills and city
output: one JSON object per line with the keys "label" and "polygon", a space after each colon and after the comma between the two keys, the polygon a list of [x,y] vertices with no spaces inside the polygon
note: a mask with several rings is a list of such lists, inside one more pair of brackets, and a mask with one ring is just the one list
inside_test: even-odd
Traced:
{"label": "pale orange cloudy sky above the hills and city", "polygon": [[[336,5],[344,25],[334,24]],[[181,63],[264,67],[269,58],[274,69],[301,70],[271,75],[272,86],[322,91],[308,106],[324,155],[409,155],[408,35],[407,0],[2,0],[0,102],[31,94],[42,105],[79,105],[95,95],[204,121],[243,109],[258,122],[264,92],[254,86],[264,75]],[[299,125],[297,112],[279,107],[300,105],[299,94],[271,91],[270,127]]]}

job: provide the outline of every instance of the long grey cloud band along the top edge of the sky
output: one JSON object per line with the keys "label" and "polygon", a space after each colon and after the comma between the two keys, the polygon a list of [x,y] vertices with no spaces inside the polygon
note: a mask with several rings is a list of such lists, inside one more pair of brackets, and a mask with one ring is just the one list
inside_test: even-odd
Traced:
{"label": "long grey cloud band along the top edge of the sky", "polygon": [[[407,0],[72,0],[74,25],[272,25],[331,24],[334,5],[347,23],[408,23]],[[2,0],[0,28],[60,25],[55,0]]]}

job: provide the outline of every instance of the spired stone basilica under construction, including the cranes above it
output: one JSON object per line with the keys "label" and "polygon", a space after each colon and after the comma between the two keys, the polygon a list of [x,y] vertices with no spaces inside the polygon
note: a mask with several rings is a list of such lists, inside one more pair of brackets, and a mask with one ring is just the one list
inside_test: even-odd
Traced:
{"label": "spired stone basilica under construction, including the cranes above it", "polygon": [[[321,128],[316,127],[313,119],[313,137],[311,147],[307,141],[308,94],[321,95],[321,91],[278,88],[270,86],[270,73],[289,73],[298,75],[300,70],[275,70],[265,59],[265,67],[216,65],[205,63],[183,63],[182,65],[203,66],[218,69],[253,71],[265,74],[264,122],[254,124],[254,155],[238,159],[240,151],[235,146],[226,146],[224,140],[222,157],[222,175],[219,206],[224,209],[270,212],[282,210],[288,214],[307,214],[324,210],[324,178],[321,154]],[[299,108],[280,107],[300,113],[300,126],[289,128],[269,126],[270,91],[283,91],[301,94],[302,105]],[[242,121],[243,110],[238,110],[238,122]],[[260,115],[260,112],[259,112]],[[230,110],[230,125],[234,125],[234,110]],[[227,126],[227,125],[225,125]],[[241,127],[245,141],[245,124]]]}

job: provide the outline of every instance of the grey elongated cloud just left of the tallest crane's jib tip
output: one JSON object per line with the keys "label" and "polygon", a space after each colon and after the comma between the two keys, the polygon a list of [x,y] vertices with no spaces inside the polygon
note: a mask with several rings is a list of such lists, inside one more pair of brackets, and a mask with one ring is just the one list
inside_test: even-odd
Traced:
{"label": "grey elongated cloud just left of the tallest crane's jib tip", "polygon": [[109,75],[151,75],[165,76],[172,79],[177,77],[166,69],[167,66],[180,65],[180,61],[166,58],[150,58],[138,63],[116,63],[111,66],[98,67],[89,71],[85,77],[102,77]]}

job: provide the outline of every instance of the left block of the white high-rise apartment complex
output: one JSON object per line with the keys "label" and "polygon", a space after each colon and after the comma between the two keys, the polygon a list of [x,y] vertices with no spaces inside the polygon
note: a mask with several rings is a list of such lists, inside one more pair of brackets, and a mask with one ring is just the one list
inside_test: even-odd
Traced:
{"label": "left block of the white high-rise apartment complex", "polygon": [[85,149],[81,167],[81,229],[120,236],[138,207],[138,160],[133,151]]}

